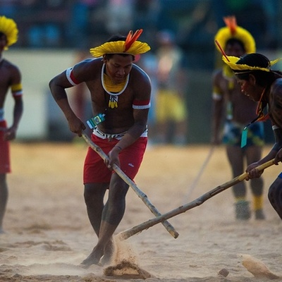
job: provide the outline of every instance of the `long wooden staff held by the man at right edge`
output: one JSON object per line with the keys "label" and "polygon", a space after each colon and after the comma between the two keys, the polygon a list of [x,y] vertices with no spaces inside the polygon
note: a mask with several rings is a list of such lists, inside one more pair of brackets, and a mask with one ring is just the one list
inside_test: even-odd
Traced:
{"label": "long wooden staff held by the man at right edge", "polygon": [[[271,161],[267,161],[266,163],[262,164],[261,166],[257,166],[257,169],[259,171],[263,171],[264,168],[268,168],[269,166],[272,166],[274,164],[274,159],[271,159]],[[222,185],[217,186],[213,190],[210,190],[209,192],[205,193],[204,195],[198,197],[196,200],[189,202],[188,204],[184,204],[183,206],[180,206],[176,209],[171,210],[170,212],[166,212],[166,214],[162,214],[161,216],[157,216],[154,219],[149,219],[148,221],[145,221],[143,223],[140,223],[137,226],[134,226],[133,228],[129,228],[121,233],[118,233],[116,237],[120,240],[126,240],[130,238],[131,236],[140,233],[141,231],[148,229],[149,227],[152,227],[156,225],[157,223],[160,223],[161,221],[164,221],[166,219],[170,219],[173,216],[177,216],[178,214],[181,214],[183,212],[188,211],[188,209],[192,209],[193,207],[198,207],[211,197],[214,197],[215,195],[219,194],[220,192],[226,190],[227,188],[230,188],[234,186],[235,184],[245,180],[247,177],[247,173],[243,173],[240,176],[237,176],[233,178],[233,180],[230,180]]]}

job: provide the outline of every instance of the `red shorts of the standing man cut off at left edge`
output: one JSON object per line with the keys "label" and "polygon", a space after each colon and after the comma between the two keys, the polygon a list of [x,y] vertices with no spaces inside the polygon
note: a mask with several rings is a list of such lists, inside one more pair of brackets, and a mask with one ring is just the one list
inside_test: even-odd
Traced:
{"label": "red shorts of the standing man cut off at left edge", "polygon": [[[0,121],[0,128],[7,128],[6,121]],[[4,131],[0,130],[0,173],[11,172],[10,145],[4,140]]]}

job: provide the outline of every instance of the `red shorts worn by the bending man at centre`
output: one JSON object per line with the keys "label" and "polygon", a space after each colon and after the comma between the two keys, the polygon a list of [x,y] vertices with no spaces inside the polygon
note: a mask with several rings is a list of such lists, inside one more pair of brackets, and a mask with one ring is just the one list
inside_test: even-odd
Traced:
{"label": "red shorts worn by the bending man at centre", "polygon": [[[114,145],[119,141],[113,139],[110,142],[108,139],[102,139],[94,134],[91,135],[91,139],[105,154],[109,154]],[[121,170],[132,180],[140,168],[146,146],[147,137],[140,137],[118,155]],[[109,183],[112,173],[113,171],[109,170],[104,164],[102,157],[93,149],[88,148],[84,164],[83,183]]]}

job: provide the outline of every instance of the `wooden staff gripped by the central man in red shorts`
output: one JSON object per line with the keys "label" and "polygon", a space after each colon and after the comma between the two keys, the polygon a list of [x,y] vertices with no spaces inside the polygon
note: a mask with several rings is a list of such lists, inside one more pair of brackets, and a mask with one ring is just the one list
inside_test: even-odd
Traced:
{"label": "wooden staff gripped by the central man in red shorts", "polygon": [[[82,132],[82,137],[85,139],[85,141],[87,142],[87,144],[90,146],[91,149],[93,149],[95,152],[97,152],[97,154],[99,154],[100,157],[102,157],[102,159],[107,159],[108,156],[104,153],[104,151],[98,146],[96,145],[91,139],[90,137],[88,137],[85,133]],[[133,180],[131,180],[122,170],[121,168],[119,168],[116,164],[114,164],[114,166],[112,167],[114,169],[114,171],[116,171],[116,173],[118,174],[118,176],[120,176],[123,181],[125,183],[127,183],[131,188],[133,188],[133,190],[136,192],[137,196],[140,197],[140,199],[146,204],[146,206],[149,208],[149,210],[152,212],[152,214],[154,214],[155,216],[161,216],[161,214],[158,212],[158,210],[156,209],[156,207],[154,207],[154,205],[149,202],[147,195],[142,192],[137,185],[133,182]],[[176,232],[176,230],[173,228],[173,226],[168,223],[168,221],[163,221],[162,224],[164,225],[164,227],[166,228],[166,230],[173,236],[173,238],[178,238],[178,232]]]}

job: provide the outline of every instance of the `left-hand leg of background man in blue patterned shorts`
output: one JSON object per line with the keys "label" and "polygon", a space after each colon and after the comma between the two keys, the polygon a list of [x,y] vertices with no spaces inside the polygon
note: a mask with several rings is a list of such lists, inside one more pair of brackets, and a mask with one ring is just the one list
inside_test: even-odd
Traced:
{"label": "left-hand leg of background man in blue patterned shorts", "polygon": [[[229,163],[231,164],[233,178],[235,178],[244,171],[243,150],[239,146],[228,145],[226,151]],[[235,197],[236,219],[250,219],[250,207],[249,203],[246,201],[247,191],[244,181],[233,186],[233,195]]]}

